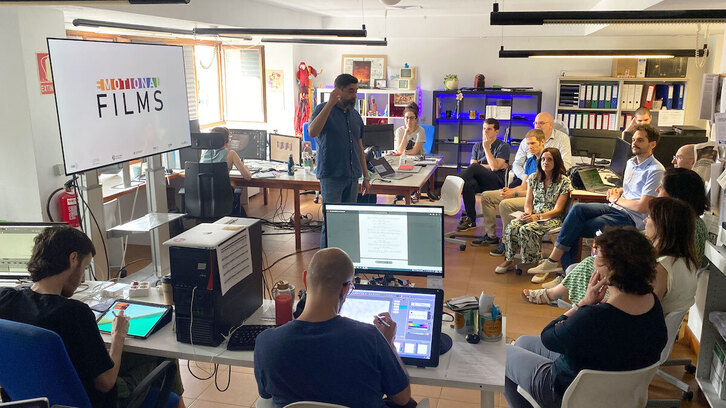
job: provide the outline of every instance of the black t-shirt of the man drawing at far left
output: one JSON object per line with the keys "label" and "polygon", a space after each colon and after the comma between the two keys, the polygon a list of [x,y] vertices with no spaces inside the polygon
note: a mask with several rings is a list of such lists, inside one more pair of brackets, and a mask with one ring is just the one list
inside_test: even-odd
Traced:
{"label": "black t-shirt of the man drawing at far left", "polygon": [[83,302],[59,295],[43,295],[30,289],[0,288],[0,318],[32,324],[57,333],[68,351],[94,407],[115,400],[115,388],[101,393],[93,379],[113,367],[96,319]]}

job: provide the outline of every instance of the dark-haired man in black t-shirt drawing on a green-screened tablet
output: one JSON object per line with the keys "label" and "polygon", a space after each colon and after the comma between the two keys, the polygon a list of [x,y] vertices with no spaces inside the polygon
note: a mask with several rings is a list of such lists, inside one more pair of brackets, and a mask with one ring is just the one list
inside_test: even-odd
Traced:
{"label": "dark-haired man in black t-shirt drawing on a green-screened tablet", "polygon": [[[28,271],[29,289],[0,289],[0,318],[57,333],[94,407],[124,406],[133,389],[163,358],[123,352],[129,319],[113,321],[111,347],[106,346],[91,309],[70,299],[84,280],[96,250],[91,240],[69,226],[48,227],[36,238]],[[177,370],[172,391],[184,407],[184,388]]]}

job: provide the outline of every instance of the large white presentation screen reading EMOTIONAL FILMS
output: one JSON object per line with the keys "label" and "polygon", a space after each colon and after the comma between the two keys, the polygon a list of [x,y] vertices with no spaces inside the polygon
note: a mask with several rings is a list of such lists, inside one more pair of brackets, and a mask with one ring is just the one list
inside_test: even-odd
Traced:
{"label": "large white presentation screen reading EMOTIONAL FILMS", "polygon": [[48,39],[66,174],[187,147],[182,47]]}

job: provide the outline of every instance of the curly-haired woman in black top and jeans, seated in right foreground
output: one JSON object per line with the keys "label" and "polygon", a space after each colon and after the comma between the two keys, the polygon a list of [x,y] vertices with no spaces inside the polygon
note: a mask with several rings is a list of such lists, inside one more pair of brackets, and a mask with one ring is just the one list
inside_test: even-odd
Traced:
{"label": "curly-haired woman in black top and jeans, seated in right foreground", "polygon": [[510,407],[530,406],[517,386],[543,408],[559,407],[580,370],[636,370],[660,359],[667,330],[651,286],[652,245],[633,227],[611,227],[595,238],[595,246],[597,271],[585,298],[540,336],[521,336],[507,345],[504,393]]}

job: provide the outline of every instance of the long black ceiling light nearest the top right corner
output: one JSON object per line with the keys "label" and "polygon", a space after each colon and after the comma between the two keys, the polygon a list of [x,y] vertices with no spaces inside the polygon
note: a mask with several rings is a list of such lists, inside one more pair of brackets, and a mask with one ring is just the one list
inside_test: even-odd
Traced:
{"label": "long black ceiling light nearest the top right corner", "polygon": [[499,11],[494,3],[491,25],[724,23],[726,10]]}

